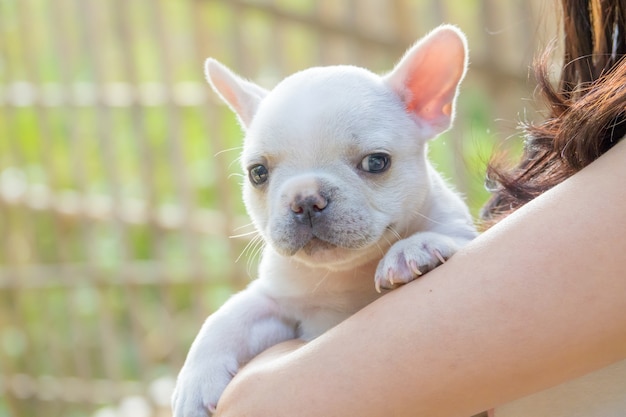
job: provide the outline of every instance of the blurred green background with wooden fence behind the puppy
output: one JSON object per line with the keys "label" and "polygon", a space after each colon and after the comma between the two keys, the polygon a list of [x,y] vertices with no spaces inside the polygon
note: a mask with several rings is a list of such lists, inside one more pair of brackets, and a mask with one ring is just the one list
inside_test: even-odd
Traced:
{"label": "blurred green background with wooden fence behind the puppy", "polygon": [[168,416],[203,319],[255,276],[213,56],[271,87],[389,70],[440,23],[471,67],[431,155],[474,214],[532,120],[544,0],[0,0],[0,417]]}

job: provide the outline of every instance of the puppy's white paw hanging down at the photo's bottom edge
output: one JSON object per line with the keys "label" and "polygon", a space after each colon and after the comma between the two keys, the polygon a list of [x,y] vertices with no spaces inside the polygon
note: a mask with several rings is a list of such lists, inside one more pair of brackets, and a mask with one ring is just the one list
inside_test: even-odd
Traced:
{"label": "puppy's white paw hanging down at the photo's bottom edge", "polygon": [[235,358],[209,358],[207,364],[185,364],[172,395],[173,417],[207,417],[237,372]]}

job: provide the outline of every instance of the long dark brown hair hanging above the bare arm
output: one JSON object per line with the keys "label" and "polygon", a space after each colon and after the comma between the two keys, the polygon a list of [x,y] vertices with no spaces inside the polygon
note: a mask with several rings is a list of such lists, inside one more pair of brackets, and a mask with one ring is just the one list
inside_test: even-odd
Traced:
{"label": "long dark brown hair hanging above the bare arm", "polygon": [[561,4],[560,80],[550,83],[548,50],[534,64],[548,115],[523,126],[524,153],[516,167],[497,159],[489,164],[493,195],[481,212],[486,226],[584,168],[626,134],[626,0]]}

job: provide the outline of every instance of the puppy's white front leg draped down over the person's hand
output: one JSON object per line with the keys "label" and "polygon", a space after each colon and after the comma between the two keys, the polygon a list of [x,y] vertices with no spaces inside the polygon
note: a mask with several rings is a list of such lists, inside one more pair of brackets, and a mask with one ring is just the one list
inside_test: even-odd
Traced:
{"label": "puppy's white front leg draped down over the person's hand", "polygon": [[255,287],[231,297],[196,336],[172,396],[175,417],[206,417],[215,411],[239,368],[263,350],[296,337],[295,323]]}

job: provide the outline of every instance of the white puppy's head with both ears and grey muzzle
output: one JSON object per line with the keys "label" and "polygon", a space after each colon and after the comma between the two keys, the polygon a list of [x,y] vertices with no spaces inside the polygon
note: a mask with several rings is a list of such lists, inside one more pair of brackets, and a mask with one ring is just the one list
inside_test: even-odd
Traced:
{"label": "white puppy's head with both ears and grey muzzle", "polygon": [[382,77],[311,68],[271,91],[207,60],[246,132],[246,207],[278,253],[343,269],[416,231],[431,191],[426,142],[450,127],[466,49],[442,26]]}

